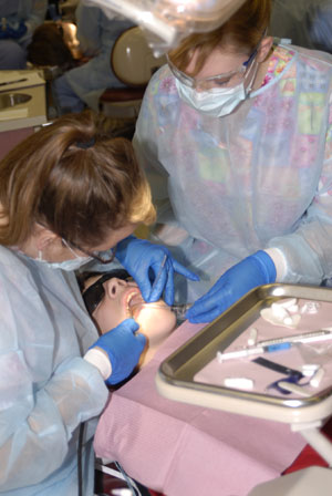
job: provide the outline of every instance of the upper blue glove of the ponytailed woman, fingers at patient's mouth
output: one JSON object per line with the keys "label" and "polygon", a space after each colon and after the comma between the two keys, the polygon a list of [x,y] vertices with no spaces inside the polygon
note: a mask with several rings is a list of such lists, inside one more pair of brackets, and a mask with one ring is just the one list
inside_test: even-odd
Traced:
{"label": "upper blue glove of the ponytailed woman, fingers at patient's mouth", "polygon": [[[199,277],[176,261],[165,246],[154,245],[146,239],[128,236],[116,246],[116,258],[137,282],[145,301],[157,301],[165,290],[165,302],[174,302],[174,272],[185,276],[191,281]],[[155,287],[149,279],[158,278]]]}

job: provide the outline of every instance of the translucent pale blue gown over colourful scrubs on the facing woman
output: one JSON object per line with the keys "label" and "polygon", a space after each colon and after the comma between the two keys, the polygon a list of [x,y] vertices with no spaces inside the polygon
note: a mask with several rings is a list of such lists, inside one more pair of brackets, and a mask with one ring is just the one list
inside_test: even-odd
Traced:
{"label": "translucent pale blue gown over colourful scrubs on the facing woman", "polygon": [[332,56],[276,53],[266,84],[225,117],[185,104],[167,65],[147,87],[134,146],[158,208],[152,238],[201,278],[176,280],[178,301],[264,248],[284,257],[280,281],[332,277]]}

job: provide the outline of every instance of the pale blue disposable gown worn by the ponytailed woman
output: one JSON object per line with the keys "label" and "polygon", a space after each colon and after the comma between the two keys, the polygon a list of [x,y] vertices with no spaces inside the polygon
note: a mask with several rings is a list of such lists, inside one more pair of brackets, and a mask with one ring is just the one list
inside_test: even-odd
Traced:
{"label": "pale blue disposable gown worn by the ponytailed woman", "polygon": [[81,356],[97,339],[73,273],[0,247],[0,494],[93,495],[96,415],[107,389]]}

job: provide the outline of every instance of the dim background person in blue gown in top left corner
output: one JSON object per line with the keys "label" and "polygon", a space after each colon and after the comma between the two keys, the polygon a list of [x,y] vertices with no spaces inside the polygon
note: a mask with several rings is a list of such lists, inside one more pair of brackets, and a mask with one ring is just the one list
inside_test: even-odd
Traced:
{"label": "dim background person in blue gown in top left corner", "polygon": [[0,1],[0,70],[27,68],[27,46],[46,10],[48,0]]}

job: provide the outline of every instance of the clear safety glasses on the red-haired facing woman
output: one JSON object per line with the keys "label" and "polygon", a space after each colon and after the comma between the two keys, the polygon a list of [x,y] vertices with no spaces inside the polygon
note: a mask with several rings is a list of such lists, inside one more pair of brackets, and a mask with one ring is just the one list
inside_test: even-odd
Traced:
{"label": "clear safety glasses on the red-haired facing woman", "polygon": [[185,74],[183,71],[177,69],[170,59],[167,56],[167,62],[170,71],[175,75],[175,78],[180,81],[180,83],[186,86],[193,87],[195,90],[208,91],[214,87],[234,87],[237,86],[245,80],[245,75],[248,69],[251,66],[251,62],[253,61],[258,49],[256,49],[248,60],[246,60],[238,69],[235,71],[230,71],[224,74],[212,75],[209,78],[196,79]]}

